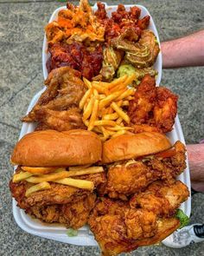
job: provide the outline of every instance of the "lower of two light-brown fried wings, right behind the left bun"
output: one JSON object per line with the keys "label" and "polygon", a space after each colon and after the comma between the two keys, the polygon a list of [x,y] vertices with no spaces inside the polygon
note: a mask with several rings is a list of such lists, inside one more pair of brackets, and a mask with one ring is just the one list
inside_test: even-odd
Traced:
{"label": "lower of two light-brown fried wings, right behind the left bun", "polygon": [[46,128],[57,131],[86,128],[82,121],[82,115],[80,114],[79,108],[70,108],[64,111],[54,111],[48,108],[36,108],[35,118],[43,123]]}

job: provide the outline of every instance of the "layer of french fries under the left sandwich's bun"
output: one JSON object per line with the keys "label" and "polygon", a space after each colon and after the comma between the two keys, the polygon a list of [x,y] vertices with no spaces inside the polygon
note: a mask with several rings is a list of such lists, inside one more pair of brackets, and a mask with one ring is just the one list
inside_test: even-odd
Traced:
{"label": "layer of french fries under the left sandwich's bun", "polygon": [[26,190],[26,196],[34,192],[51,188],[49,181],[88,190],[93,190],[94,183],[92,181],[84,181],[69,177],[80,176],[85,174],[99,174],[104,172],[103,167],[21,167],[20,173],[14,174],[13,182],[28,181],[36,184]]}

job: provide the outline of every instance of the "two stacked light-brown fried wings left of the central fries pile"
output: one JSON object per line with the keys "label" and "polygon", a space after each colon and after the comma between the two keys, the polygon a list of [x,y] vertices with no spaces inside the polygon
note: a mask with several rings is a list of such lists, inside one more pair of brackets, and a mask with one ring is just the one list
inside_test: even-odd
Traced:
{"label": "two stacked light-brown fried wings left of the central fries pile", "polygon": [[22,121],[37,121],[39,129],[65,131],[85,128],[80,99],[86,92],[80,73],[70,67],[54,69],[45,81],[47,89]]}

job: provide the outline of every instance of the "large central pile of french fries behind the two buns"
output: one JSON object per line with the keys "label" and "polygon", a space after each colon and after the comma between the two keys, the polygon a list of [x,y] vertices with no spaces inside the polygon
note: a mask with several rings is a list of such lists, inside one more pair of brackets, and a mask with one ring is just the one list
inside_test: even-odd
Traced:
{"label": "large central pile of french fries behind the two buns", "polygon": [[80,101],[83,121],[102,141],[131,132],[130,117],[124,107],[129,106],[135,94],[135,89],[128,87],[134,79],[135,74],[124,75],[112,82],[90,82],[84,78],[87,91]]}

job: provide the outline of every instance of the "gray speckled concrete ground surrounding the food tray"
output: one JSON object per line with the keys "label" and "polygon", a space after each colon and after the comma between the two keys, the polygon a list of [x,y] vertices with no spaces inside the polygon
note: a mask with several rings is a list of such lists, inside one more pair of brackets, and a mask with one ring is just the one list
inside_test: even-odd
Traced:
{"label": "gray speckled concrete ground surrounding the food tray", "polygon": [[[8,182],[14,147],[33,95],[41,89],[43,27],[61,1],[0,0],[0,255],[99,255],[97,247],[69,246],[24,233],[12,215]],[[72,1],[73,2],[73,1]],[[91,1],[93,3],[93,1]],[[153,16],[161,41],[187,35],[204,27],[204,1],[150,0],[141,3]],[[107,1],[107,3],[119,3]],[[203,68],[163,70],[162,84],[180,95],[179,116],[188,143],[203,135]],[[192,222],[204,222],[204,195],[192,200]],[[204,243],[183,249],[150,246],[131,255],[204,255]]]}

